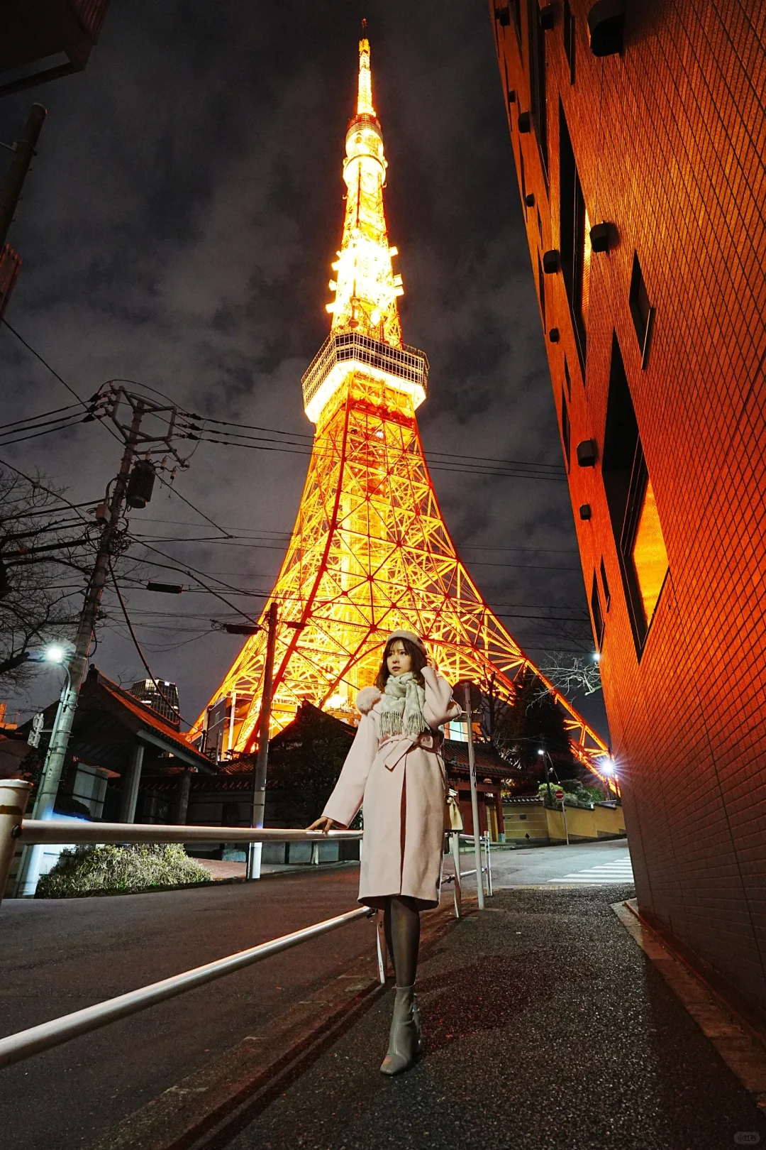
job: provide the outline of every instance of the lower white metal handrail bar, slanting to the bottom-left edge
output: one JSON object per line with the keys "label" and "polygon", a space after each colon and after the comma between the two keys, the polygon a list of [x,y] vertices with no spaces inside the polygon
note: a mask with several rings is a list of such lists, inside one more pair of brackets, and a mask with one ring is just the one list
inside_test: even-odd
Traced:
{"label": "lower white metal handrail bar, slanting to the bottom-left edge", "polygon": [[[204,966],[196,966],[193,971],[185,971],[183,974],[173,974],[169,979],[153,982],[148,987],[140,987],[138,990],[130,990],[126,995],[118,995],[107,1002],[96,1003],[94,1006],[86,1006],[84,1010],[75,1011],[72,1014],[63,1014],[54,1018],[49,1022],[41,1022],[39,1026],[30,1027],[29,1030],[20,1030],[10,1034],[6,1038],[0,1038],[0,1066],[10,1066],[13,1063],[37,1055],[41,1050],[49,1050],[57,1046],[79,1034],[87,1034],[115,1022],[117,1019],[136,1014],[138,1011],[154,1006],[155,1003],[164,1002],[167,998],[175,998],[176,995],[185,994],[195,987],[201,987],[206,982],[212,982],[225,974],[233,974],[245,966],[260,963],[271,954],[278,954],[299,943],[308,942],[319,935],[330,934],[339,927],[356,922],[357,919],[372,918],[377,912],[367,906],[355,911],[347,911],[338,914],[333,919],[324,922],[316,922],[314,926],[303,927],[302,930],[294,930],[292,934],[283,935],[280,938],[272,938],[270,942],[262,942],[257,946],[248,950],[240,950],[235,954],[226,958],[217,958]],[[385,981],[385,976],[381,979]]]}

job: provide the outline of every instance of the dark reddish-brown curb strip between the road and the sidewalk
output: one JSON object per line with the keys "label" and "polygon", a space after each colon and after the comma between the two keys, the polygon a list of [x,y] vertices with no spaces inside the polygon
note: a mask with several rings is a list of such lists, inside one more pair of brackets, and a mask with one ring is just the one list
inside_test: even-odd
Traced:
{"label": "dark reddish-brown curb strip between the road and the sidewalk", "polygon": [[[471,903],[466,910],[471,913]],[[452,918],[451,898],[432,915],[423,926],[421,956],[458,921]],[[359,959],[347,974],[129,1114],[88,1150],[218,1150],[387,989],[378,979],[377,960]]]}

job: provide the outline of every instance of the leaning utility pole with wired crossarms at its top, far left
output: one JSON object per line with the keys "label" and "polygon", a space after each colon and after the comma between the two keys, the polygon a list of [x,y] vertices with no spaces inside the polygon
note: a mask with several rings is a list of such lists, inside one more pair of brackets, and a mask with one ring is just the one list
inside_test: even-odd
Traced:
{"label": "leaning utility pole with wired crossarms at its top, far left", "polygon": [[[118,409],[122,401],[127,401],[131,408],[132,416],[130,424],[125,424],[121,421]],[[111,558],[117,551],[117,527],[125,508],[127,483],[136,455],[136,448],[139,443],[144,446],[158,442],[163,445],[163,448],[170,450],[178,459],[175,450],[170,445],[170,438],[173,432],[177,414],[175,407],[156,404],[152,400],[145,399],[142,396],[134,396],[131,392],[126,392],[124,388],[108,386],[108,390],[103,392],[103,394],[96,393],[96,396],[94,396],[91,404],[91,414],[94,415],[94,417],[109,415],[111,422],[119,430],[125,447],[119,463],[119,471],[117,473],[114,488],[111,490],[111,496],[109,497],[106,506],[102,505],[103,527],[99,537],[99,547],[96,551],[95,562],[93,565],[93,572],[87,585],[87,591],[85,592],[85,601],[79,615],[77,635],[75,638],[75,649],[68,660],[68,665],[64,668],[67,670],[67,682],[61,692],[56,719],[51,733],[51,742],[45,757],[40,785],[32,811],[33,819],[53,818],[56,796],[59,793],[59,784],[61,782],[61,773],[67,760],[69,738],[71,736],[72,723],[75,721],[77,698],[79,696],[83,678],[85,677],[87,654],[91,643],[93,642],[95,621],[99,607],[101,606],[101,599],[103,597],[103,586],[107,581]],[[146,414],[168,414],[167,435],[156,436],[142,434],[141,421]],[[179,460],[179,462],[183,463],[181,460]],[[24,849],[24,857],[22,858],[16,891],[18,897],[34,894],[39,879],[42,853],[42,848],[39,845]]]}

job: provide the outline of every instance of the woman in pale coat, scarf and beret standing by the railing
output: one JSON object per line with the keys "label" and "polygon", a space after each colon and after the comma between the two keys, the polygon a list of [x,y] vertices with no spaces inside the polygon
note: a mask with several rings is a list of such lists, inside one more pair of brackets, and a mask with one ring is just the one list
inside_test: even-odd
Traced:
{"label": "woman in pale coat, scarf and beret standing by the railing", "polygon": [[421,1049],[415,974],[420,911],[439,905],[444,849],[441,726],[461,713],[452,689],[428,664],[412,631],[393,631],[374,687],[356,699],[362,715],[320,819],[309,830],[348,827],[364,804],[359,902],[384,911],[396,975],[388,1053],[380,1070],[409,1070]]}

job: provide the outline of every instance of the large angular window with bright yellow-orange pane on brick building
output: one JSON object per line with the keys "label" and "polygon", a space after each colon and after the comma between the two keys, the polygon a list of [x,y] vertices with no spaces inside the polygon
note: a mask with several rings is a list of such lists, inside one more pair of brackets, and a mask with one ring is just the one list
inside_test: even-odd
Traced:
{"label": "large angular window with bright yellow-orange pane on brick building", "polygon": [[640,652],[667,575],[667,551],[616,336],[612,336],[602,477]]}

